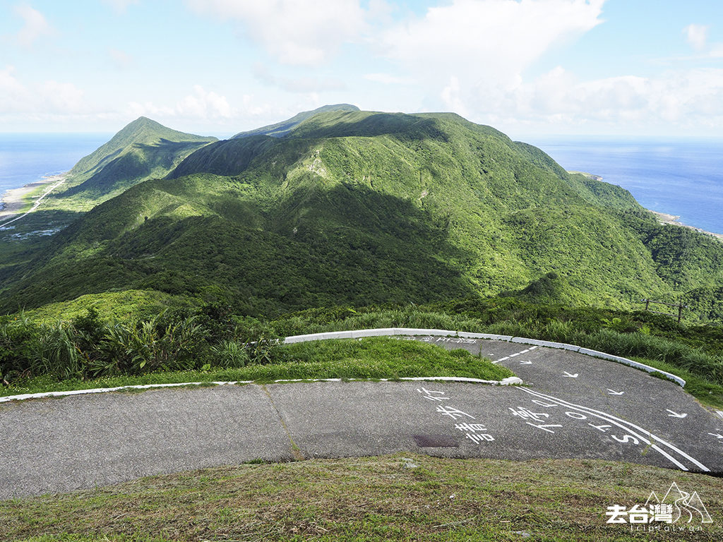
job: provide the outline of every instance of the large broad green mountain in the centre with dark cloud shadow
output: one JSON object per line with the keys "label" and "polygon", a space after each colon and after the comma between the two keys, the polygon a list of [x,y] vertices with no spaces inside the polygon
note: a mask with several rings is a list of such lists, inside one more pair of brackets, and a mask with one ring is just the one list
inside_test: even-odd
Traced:
{"label": "large broad green mountain in the centre with dark cloud shadow", "polygon": [[325,111],[98,205],[13,270],[0,310],[138,290],[254,315],[499,293],[630,308],[722,283],[718,241],[489,126]]}

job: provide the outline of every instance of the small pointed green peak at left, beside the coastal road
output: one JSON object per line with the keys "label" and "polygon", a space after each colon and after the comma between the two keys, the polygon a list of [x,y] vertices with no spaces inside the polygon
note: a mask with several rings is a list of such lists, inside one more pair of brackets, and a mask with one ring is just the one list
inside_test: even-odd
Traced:
{"label": "small pointed green peak at left, beside the coastal road", "polygon": [[72,207],[93,207],[147,178],[166,176],[181,160],[214,141],[218,139],[184,134],[140,117],[82,158],[54,199],[72,199]]}

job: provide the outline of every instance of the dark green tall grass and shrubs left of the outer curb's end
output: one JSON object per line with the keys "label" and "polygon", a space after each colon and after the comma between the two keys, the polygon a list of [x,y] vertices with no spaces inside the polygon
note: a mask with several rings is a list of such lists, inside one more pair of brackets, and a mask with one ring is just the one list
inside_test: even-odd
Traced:
{"label": "dark green tall grass and shrubs left of the outer curb's end", "polygon": [[88,379],[205,366],[268,363],[273,343],[251,341],[235,319],[163,312],[135,322],[103,322],[94,311],[71,322],[0,318],[0,378]]}

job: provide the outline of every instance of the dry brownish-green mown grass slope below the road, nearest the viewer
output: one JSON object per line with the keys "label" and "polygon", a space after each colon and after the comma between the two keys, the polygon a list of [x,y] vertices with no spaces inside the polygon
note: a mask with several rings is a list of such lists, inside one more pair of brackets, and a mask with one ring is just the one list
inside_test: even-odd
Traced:
{"label": "dry brownish-green mown grass slope below the road, nearest the viewer", "polygon": [[[0,502],[7,541],[719,541],[723,481],[599,460],[423,455],[247,464]],[[675,481],[713,519],[675,533],[607,525]],[[695,521],[695,520],[694,520]]]}

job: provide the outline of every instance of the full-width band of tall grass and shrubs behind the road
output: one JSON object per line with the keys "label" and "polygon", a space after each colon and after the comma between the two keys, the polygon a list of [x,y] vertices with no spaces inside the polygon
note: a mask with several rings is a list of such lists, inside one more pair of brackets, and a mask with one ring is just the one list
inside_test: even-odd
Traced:
{"label": "full-width band of tall grass and shrubs behind the road", "polygon": [[[505,303],[510,306],[505,308]],[[455,308],[459,308],[455,310]],[[520,306],[502,301],[490,310],[469,305],[310,309],[272,322],[237,317],[220,306],[194,313],[164,312],[137,322],[101,321],[89,311],[71,322],[36,324],[22,314],[0,317],[0,379],[6,384],[50,374],[57,379],[137,375],[210,367],[241,368],[278,362],[274,337],[373,327],[487,332],[571,343],[617,356],[646,358],[723,384],[715,329],[639,322],[632,316]],[[469,310],[467,310],[469,309]],[[637,316],[636,316],[637,317]],[[651,332],[652,330],[652,332]],[[686,342],[688,341],[688,342]]]}

